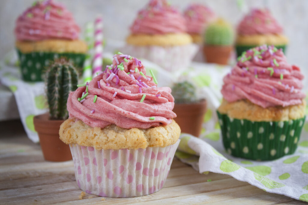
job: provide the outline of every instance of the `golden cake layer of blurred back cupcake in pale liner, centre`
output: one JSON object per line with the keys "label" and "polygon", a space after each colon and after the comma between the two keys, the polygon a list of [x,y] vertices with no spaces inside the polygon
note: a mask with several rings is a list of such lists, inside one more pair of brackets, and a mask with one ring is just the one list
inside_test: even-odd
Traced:
{"label": "golden cake layer of blurred back cupcake in pale liner, centre", "polygon": [[189,34],[131,34],[126,38],[126,42],[131,45],[138,46],[176,46],[186,45],[193,42],[192,37]]}

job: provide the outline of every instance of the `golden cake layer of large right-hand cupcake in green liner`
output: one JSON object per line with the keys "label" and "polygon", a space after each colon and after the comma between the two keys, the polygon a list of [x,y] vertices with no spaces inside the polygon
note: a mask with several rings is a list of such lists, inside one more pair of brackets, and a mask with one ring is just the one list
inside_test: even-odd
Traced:
{"label": "golden cake layer of large right-hand cupcake in green liner", "polygon": [[302,104],[291,105],[287,107],[275,106],[262,108],[248,100],[240,100],[229,103],[223,99],[218,111],[221,114],[227,114],[231,118],[246,119],[250,121],[288,121],[304,117],[306,101]]}

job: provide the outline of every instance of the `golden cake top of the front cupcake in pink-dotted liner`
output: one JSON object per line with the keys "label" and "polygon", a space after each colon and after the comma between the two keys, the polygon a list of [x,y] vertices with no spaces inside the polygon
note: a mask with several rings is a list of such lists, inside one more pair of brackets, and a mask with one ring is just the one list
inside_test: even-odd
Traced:
{"label": "golden cake top of the front cupcake in pink-dotted liner", "polygon": [[65,120],[59,130],[60,139],[66,144],[101,149],[138,149],[166,147],[175,144],[180,136],[179,125],[172,122],[165,126],[148,129],[124,129],[115,124],[105,128],[92,128],[81,120]]}

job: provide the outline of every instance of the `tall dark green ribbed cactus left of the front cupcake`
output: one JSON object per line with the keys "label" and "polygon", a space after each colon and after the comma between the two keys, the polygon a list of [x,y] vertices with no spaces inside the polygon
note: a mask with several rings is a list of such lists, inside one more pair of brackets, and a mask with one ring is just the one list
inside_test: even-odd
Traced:
{"label": "tall dark green ribbed cactus left of the front cupcake", "polygon": [[75,67],[66,58],[55,60],[47,69],[45,84],[51,119],[68,118],[66,103],[68,94],[77,89],[77,73]]}

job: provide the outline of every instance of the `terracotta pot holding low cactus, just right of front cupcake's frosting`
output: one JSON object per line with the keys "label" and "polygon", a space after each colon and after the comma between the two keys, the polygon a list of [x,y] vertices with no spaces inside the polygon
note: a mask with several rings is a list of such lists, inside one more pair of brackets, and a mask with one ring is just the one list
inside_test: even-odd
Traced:
{"label": "terracotta pot holding low cactus, just right of front cupcake's frosting", "polygon": [[198,137],[201,132],[205,111],[206,100],[192,104],[175,104],[173,112],[176,113],[176,118],[174,120],[180,125],[181,132]]}

